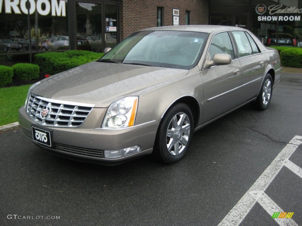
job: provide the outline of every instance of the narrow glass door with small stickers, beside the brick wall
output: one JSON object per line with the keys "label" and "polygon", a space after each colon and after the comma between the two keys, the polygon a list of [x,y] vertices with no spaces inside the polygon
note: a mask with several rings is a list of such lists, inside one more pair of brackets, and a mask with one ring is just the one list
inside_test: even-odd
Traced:
{"label": "narrow glass door with small stickers, beside the brick wall", "polygon": [[117,44],[117,5],[105,5],[104,48]]}

